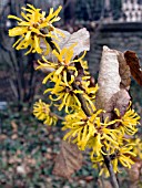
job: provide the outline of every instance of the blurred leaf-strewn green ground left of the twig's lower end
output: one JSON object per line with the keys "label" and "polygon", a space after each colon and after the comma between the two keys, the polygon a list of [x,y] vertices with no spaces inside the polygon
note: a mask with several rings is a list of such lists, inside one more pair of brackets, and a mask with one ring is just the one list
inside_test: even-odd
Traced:
{"label": "blurred leaf-strewn green ground left of the twig's lower end", "polygon": [[48,127],[29,111],[1,113],[0,188],[92,188],[98,171],[88,154],[82,168],[70,180],[52,175],[63,133],[60,124]]}

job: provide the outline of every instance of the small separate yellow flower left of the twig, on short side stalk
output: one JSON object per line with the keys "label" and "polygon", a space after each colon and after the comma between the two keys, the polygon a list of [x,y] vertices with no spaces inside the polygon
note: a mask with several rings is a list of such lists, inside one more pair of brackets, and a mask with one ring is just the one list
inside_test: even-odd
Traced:
{"label": "small separate yellow flower left of the twig, on short side stalk", "polygon": [[50,111],[50,105],[43,103],[41,100],[36,102],[33,106],[33,115],[39,121],[44,121],[43,123],[47,125],[55,125],[58,122],[58,118]]}

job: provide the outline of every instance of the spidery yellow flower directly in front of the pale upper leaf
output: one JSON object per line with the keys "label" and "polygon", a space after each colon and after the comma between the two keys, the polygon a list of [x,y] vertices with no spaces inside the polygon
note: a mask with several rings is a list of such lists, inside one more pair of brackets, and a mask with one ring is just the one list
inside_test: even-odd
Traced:
{"label": "spidery yellow flower directly in front of the pale upper leaf", "polygon": [[[48,60],[45,60],[45,58],[42,58],[44,63],[41,63],[39,61],[39,66],[37,69],[53,69],[54,71],[50,74],[48,74],[44,80],[43,80],[43,84],[45,84],[48,82],[48,80],[50,80],[52,77],[52,80],[58,77],[57,75],[62,75],[62,81],[65,83],[65,85],[69,86],[69,81],[70,80],[74,80],[74,77],[77,77],[78,75],[78,71],[74,67],[74,62],[75,61],[81,61],[85,54],[79,58],[78,60],[72,60],[73,58],[73,48],[77,44],[72,44],[69,48],[63,48],[62,50],[60,50],[60,48],[57,44],[57,50],[53,50],[53,55],[57,58],[55,62],[49,62]],[[70,73],[69,73],[70,72]]]}

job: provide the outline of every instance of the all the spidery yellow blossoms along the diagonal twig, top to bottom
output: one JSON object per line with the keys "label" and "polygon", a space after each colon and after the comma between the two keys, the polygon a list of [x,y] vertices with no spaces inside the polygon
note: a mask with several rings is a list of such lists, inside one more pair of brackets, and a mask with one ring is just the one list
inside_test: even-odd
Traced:
{"label": "all the spidery yellow blossoms along the diagonal twig, top to bottom", "polygon": [[[94,84],[90,75],[88,62],[83,60],[87,52],[74,56],[75,41],[68,48],[61,48],[58,43],[55,33],[60,35],[62,33],[52,23],[60,20],[58,14],[61,7],[54,12],[51,8],[48,17],[45,12],[40,12],[40,9],[31,4],[22,10],[27,12],[21,12],[23,19],[8,17],[18,21],[18,25],[9,30],[9,35],[21,35],[13,44],[17,50],[30,46],[27,54],[34,52],[42,54],[37,70],[52,70],[42,83],[52,83],[44,94],[48,94],[54,107],[59,111],[64,109],[67,113],[62,127],[62,130],[67,130],[64,139],[75,143],[81,150],[90,148],[93,166],[100,164],[100,174],[108,175],[104,156],[110,157],[114,173],[119,171],[119,164],[130,168],[138,152],[128,136],[133,136],[138,132],[140,116],[129,106],[123,116],[115,108],[114,119],[102,118],[105,112],[95,107],[95,94],[99,86]],[[47,45],[45,52],[41,48],[42,42]],[[49,53],[53,58],[50,61],[49,56],[45,56]],[[33,114],[44,124],[55,125],[60,117],[52,113],[50,107],[40,100],[33,106]],[[139,143],[138,139],[135,142]]]}

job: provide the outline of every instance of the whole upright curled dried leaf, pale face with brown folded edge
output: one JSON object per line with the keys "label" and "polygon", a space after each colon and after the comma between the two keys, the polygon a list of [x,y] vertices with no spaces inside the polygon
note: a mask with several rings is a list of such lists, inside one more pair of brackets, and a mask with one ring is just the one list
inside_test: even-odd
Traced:
{"label": "whole upright curled dried leaf, pale face with brown folded edge", "polygon": [[123,53],[104,46],[98,82],[100,88],[97,95],[97,107],[106,112],[104,118],[114,119],[114,108],[120,111],[121,116],[124,115],[130,102],[128,93],[130,81],[130,70]]}

